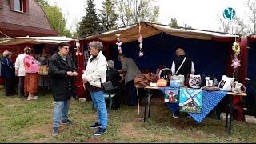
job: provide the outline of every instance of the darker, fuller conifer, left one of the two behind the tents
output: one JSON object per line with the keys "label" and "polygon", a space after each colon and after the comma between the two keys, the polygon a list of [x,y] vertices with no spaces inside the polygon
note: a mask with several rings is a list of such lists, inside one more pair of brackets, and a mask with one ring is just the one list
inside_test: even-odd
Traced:
{"label": "darker, fuller conifer, left one of the two behind the tents", "polygon": [[86,1],[86,16],[82,17],[79,23],[79,37],[85,37],[87,34],[92,34],[101,30],[99,19],[95,10],[94,0]]}

